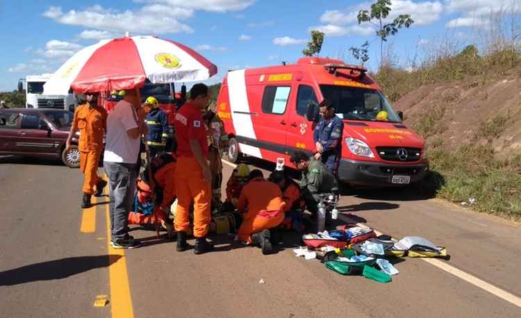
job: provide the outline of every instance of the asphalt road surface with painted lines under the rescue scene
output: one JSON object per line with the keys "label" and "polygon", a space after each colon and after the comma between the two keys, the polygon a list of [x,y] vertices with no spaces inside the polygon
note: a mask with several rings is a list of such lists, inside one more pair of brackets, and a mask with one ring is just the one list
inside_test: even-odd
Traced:
{"label": "asphalt road surface with painted lines under the rescue scene", "polygon": [[[109,249],[107,198],[81,210],[81,182],[59,162],[0,158],[0,317],[521,317],[519,224],[404,190],[349,190],[342,220],[451,256],[397,259],[381,284],[297,258],[298,235],[271,256],[229,235],[213,237],[215,253],[176,253],[140,230],[142,248]],[[93,306],[99,295],[108,305]]]}

